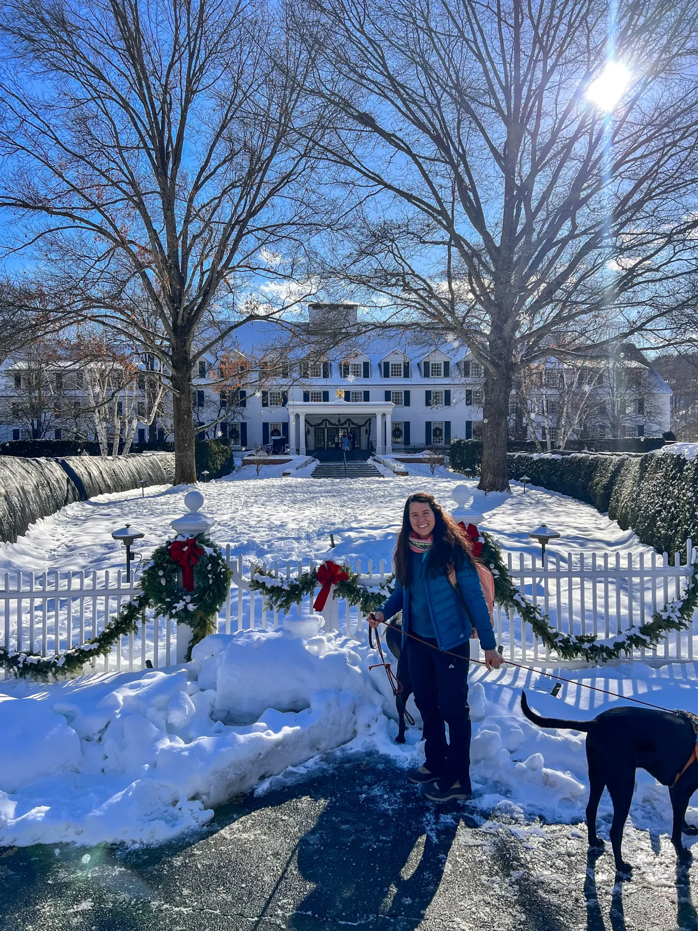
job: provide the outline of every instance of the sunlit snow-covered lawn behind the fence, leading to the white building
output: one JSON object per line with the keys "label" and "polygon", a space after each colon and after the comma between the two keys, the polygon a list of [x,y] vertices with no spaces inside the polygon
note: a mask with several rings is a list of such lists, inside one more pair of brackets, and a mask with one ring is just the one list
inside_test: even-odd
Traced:
{"label": "sunlit snow-covered lawn behind the fence, leading to the white building", "polygon": [[[456,484],[474,492],[473,509],[484,515],[483,526],[496,533],[505,549],[540,553],[528,531],[542,522],[561,534],[549,552],[621,548],[651,552],[634,533],[623,531],[615,521],[593,507],[554,492],[512,485],[513,494],[478,492],[476,480],[465,480],[442,467],[432,476],[429,466],[409,465],[408,478],[311,479],[312,467],[288,479],[288,466],[263,466],[257,478],[254,466],[232,476],[199,486],[204,492],[203,510],[216,519],[211,531],[220,544],[230,544],[235,556],[256,559],[299,560],[324,553],[329,534],[338,543],[335,559],[389,560],[410,492],[433,492],[445,507],[454,506],[451,491]],[[277,478],[272,478],[275,473]],[[264,478],[264,476],[270,476]],[[300,476],[300,477],[296,477]],[[141,492],[103,494],[90,501],[69,505],[49,518],[38,520],[15,544],[0,546],[0,572],[47,569],[92,570],[122,568],[124,547],[112,539],[112,531],[131,523],[145,536],[136,552],[149,554],[169,531],[169,521],[184,511],[188,486],[150,488]]]}

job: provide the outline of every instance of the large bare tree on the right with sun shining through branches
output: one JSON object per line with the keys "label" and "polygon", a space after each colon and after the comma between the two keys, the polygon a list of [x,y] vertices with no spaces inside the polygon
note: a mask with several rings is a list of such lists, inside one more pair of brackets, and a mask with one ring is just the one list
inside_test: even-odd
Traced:
{"label": "large bare tree on the right with sun shining through branches", "polygon": [[329,263],[484,365],[479,487],[506,489],[517,371],[558,335],[603,344],[599,310],[617,337],[690,300],[698,7],[324,0],[296,15],[321,50],[315,95],[343,116],[318,144],[360,201]]}

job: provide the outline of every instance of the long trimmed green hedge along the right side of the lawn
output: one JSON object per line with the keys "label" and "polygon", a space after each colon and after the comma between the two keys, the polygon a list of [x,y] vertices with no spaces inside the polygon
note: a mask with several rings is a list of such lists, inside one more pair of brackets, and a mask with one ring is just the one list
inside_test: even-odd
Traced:
{"label": "long trimmed green hedge along the right side of the lawn", "polygon": [[698,542],[698,457],[672,452],[630,456],[510,453],[509,478],[570,495],[608,511],[624,530],[659,552]]}

